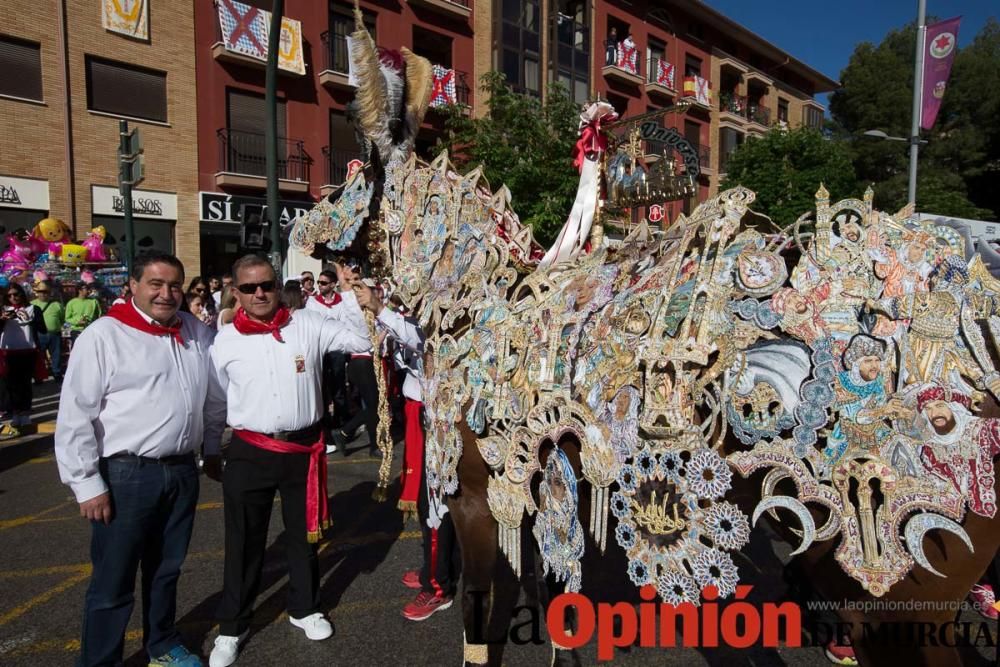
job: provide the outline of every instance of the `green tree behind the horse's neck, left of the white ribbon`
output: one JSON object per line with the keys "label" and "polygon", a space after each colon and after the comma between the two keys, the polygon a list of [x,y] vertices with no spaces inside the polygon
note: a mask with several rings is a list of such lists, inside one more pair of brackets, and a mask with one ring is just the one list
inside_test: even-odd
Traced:
{"label": "green tree behind the horse's neck, left of the white ribbon", "polygon": [[573,167],[580,109],[564,88],[552,85],[545,101],[515,93],[501,72],[489,72],[480,90],[489,98],[481,118],[452,108],[438,150],[455,166],[477,165],[494,190],[506,185],[511,206],[543,246],[551,244],[569,215],[579,173]]}

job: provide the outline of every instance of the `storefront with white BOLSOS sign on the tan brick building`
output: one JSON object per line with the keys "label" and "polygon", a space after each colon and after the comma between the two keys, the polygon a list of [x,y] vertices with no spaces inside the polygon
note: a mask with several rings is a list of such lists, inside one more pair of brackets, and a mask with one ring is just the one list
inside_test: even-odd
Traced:
{"label": "storefront with white BOLSOS sign on the tan brick building", "polygon": [[[125,254],[125,206],[118,188],[90,186],[92,226],[103,225],[107,231],[104,243],[119,257]],[[132,221],[135,232],[135,253],[174,253],[177,225],[177,195],[153,190],[132,191]],[[79,230],[84,236],[87,230]]]}

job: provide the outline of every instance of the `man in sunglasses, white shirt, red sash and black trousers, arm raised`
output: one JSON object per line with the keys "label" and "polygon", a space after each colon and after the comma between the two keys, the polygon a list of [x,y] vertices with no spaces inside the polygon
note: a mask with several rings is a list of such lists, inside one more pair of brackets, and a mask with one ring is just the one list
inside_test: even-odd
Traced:
{"label": "man in sunglasses, white shirt, red sash and black trousers, arm raised", "polygon": [[289,314],[266,260],[238,260],[233,278],[240,308],[212,349],[233,439],[223,474],[225,574],[211,667],[235,662],[246,638],[275,491],[281,494],[285,525],[289,621],[309,639],[333,633],[320,611],[316,549],[329,525],[320,369],[325,352],[370,348],[366,329],[353,323],[364,322],[359,305],[372,309],[376,301],[364,286],[343,294],[340,307],[356,311],[349,323],[309,310]]}

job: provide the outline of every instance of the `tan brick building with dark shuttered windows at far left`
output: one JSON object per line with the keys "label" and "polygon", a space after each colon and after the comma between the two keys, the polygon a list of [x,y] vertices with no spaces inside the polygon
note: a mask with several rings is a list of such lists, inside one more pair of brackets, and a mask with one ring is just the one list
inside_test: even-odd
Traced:
{"label": "tan brick building with dark shuttered windows at far left", "polygon": [[10,0],[5,10],[0,57],[10,78],[0,84],[0,186],[8,196],[0,225],[30,228],[52,215],[76,238],[104,225],[107,242],[122,248],[118,121],[127,118],[145,145],[146,177],[133,195],[137,250],[176,252],[193,274],[200,264],[193,5],[157,3],[145,39],[105,29],[101,3],[91,0]]}

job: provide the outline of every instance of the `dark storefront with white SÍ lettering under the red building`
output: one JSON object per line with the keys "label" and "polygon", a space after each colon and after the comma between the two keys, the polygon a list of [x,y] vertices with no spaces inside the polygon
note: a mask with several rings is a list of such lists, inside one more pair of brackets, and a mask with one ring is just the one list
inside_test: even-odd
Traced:
{"label": "dark storefront with white S\u00cd lettering under the red building", "polygon": [[[198,193],[198,217],[201,219],[201,275],[228,273],[241,255],[240,210],[244,205],[263,206],[262,197],[244,197],[223,192]],[[281,224],[287,225],[315,206],[311,201],[281,200]]]}

